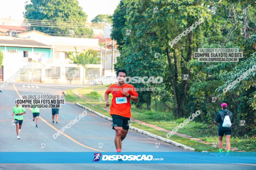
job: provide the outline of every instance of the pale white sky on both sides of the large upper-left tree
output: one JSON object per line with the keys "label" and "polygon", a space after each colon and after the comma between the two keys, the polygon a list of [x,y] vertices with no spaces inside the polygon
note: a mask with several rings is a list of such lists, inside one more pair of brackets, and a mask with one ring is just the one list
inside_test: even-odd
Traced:
{"label": "pale white sky on both sides of the large upper-left tree", "polygon": [[[4,0],[1,0],[4,1]],[[0,4],[3,2],[0,1]],[[0,5],[0,18],[23,19],[24,5],[28,0],[12,0],[11,3]],[[30,0],[29,0],[30,1]],[[87,22],[98,14],[113,14],[120,0],[78,0],[83,12],[88,15]],[[13,5],[11,5],[13,4]]]}

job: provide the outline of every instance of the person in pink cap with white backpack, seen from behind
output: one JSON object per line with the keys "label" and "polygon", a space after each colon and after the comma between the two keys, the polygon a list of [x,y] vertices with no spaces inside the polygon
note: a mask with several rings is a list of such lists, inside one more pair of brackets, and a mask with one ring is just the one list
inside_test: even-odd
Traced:
{"label": "person in pink cap with white backpack, seen from behind", "polygon": [[[227,117],[226,117],[227,116]],[[221,104],[221,111],[218,112],[216,122],[219,123],[218,136],[219,136],[219,154],[217,156],[223,156],[222,154],[222,138],[226,135],[227,154],[229,156],[230,151],[230,137],[232,131],[233,114],[227,109],[227,103]]]}

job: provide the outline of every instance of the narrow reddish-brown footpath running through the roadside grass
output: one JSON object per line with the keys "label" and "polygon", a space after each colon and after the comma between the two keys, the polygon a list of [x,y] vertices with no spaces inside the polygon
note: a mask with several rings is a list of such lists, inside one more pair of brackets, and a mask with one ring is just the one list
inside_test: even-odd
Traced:
{"label": "narrow reddish-brown footpath running through the roadside grass", "polygon": [[[79,88],[79,89],[81,89],[81,88]],[[81,97],[81,98],[85,98],[84,96],[82,96],[82,95],[78,92],[79,89],[74,89],[74,90],[73,90],[74,94],[76,94],[77,96],[79,96],[79,97]],[[88,98],[85,98],[85,99],[86,99],[86,101],[90,101],[90,100],[88,100]],[[105,107],[104,107],[104,108],[102,108],[102,109],[104,109],[104,110],[110,112],[110,109],[108,109],[108,108],[105,108]],[[143,121],[141,121],[141,120],[137,120],[137,119],[133,119],[133,118],[131,118],[131,120],[132,120],[132,121],[135,121],[135,122],[137,122],[137,123],[141,123],[142,125],[145,125],[145,126],[154,128],[154,129],[156,129],[156,130],[164,131],[164,132],[166,132],[166,133],[169,133],[169,132],[170,132],[170,130],[163,129],[163,128],[161,128],[161,127],[158,127],[158,126],[156,126],[156,125],[152,125],[152,124],[143,122]],[[172,131],[172,132],[175,133],[174,131]],[[183,137],[183,138],[188,138],[188,139],[190,139],[190,140],[195,140],[195,141],[198,141],[198,142],[203,143],[203,144],[206,144],[206,145],[213,145],[212,143],[205,142],[205,141],[203,141],[203,140],[200,139],[200,138],[192,138],[191,136],[188,136],[188,135],[186,135],[186,134],[180,134],[180,133],[177,133],[177,132],[176,132],[175,135],[180,136],[180,137]],[[227,148],[227,147],[223,146],[223,149],[226,149],[226,148]],[[230,150],[231,150],[231,151],[236,151],[236,150],[238,150],[238,149],[231,147]]]}

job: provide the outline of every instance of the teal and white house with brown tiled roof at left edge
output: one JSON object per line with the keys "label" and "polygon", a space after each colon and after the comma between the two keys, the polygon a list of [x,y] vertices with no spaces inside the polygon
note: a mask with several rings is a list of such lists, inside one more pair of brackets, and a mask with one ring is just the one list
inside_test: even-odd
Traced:
{"label": "teal and white house with brown tiled roof at left edge", "polygon": [[11,78],[29,62],[33,62],[33,69],[35,69],[41,67],[43,63],[53,61],[53,47],[32,39],[0,36],[0,49],[3,53],[0,81]]}

